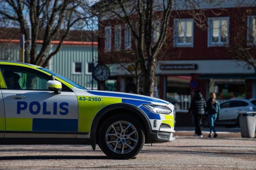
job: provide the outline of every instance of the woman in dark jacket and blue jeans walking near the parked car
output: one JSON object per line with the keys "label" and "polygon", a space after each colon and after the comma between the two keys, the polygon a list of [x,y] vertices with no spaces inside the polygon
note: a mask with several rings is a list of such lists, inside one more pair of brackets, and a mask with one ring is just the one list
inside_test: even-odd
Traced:
{"label": "woman in dark jacket and blue jeans walking near the parked car", "polygon": [[216,94],[211,92],[210,98],[206,102],[206,112],[208,114],[208,120],[210,124],[210,134],[208,137],[212,137],[212,132],[214,132],[213,137],[217,137],[217,133],[214,127],[214,121],[219,117],[220,114],[220,104],[215,99]]}

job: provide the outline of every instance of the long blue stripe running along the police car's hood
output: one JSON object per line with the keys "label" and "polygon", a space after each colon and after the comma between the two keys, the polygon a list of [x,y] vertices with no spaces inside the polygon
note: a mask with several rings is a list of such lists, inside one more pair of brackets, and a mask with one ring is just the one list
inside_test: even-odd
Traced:
{"label": "long blue stripe running along the police car's hood", "polygon": [[[109,96],[109,97],[124,97],[124,98],[130,98],[130,99],[138,99],[138,100],[146,100],[146,101],[153,101],[158,103],[165,103],[164,101],[152,99],[149,97],[143,97],[143,96],[134,96],[130,94],[119,94],[119,93],[108,93],[108,92],[101,92],[101,91],[91,91],[87,90],[88,93],[98,95],[98,96]],[[165,103],[168,104],[168,103]]]}

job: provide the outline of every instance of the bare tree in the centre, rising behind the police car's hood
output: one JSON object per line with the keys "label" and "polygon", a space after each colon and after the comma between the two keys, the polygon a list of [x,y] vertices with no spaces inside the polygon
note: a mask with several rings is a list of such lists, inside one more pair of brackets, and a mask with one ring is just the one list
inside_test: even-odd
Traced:
{"label": "bare tree in the centre, rising behind the police car's hood", "polygon": [[[179,18],[180,10],[186,10],[187,14],[193,16],[198,26],[202,29],[207,27],[207,16],[205,10],[200,8],[200,2],[200,0],[102,0],[95,4],[95,9],[104,14],[99,24],[106,24],[107,21],[110,25],[126,23],[131,29],[134,40],[132,49],[134,58],[131,61],[140,63],[145,80],[145,95],[154,94],[156,63],[161,57],[167,35],[174,29],[174,26],[169,24],[170,19]],[[217,6],[221,2],[222,0],[204,1],[210,7]],[[168,47],[171,48],[172,43],[168,44]],[[114,55],[117,55],[116,52],[109,53],[109,56]],[[124,54],[121,53],[121,56],[123,57]],[[116,63],[118,62],[119,60],[116,60]]]}

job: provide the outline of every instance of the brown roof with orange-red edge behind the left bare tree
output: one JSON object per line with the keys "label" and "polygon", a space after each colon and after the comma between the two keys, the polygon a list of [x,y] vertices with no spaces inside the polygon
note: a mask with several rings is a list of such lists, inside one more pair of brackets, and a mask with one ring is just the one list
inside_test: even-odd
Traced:
{"label": "brown roof with orange-red edge behind the left bare tree", "polygon": [[[29,29],[26,30],[27,34],[29,35]],[[60,40],[60,36],[62,33],[64,33],[65,30],[60,30],[55,37],[53,37],[52,42],[56,44]],[[42,43],[43,36],[45,34],[45,29],[39,31],[38,34],[38,42]],[[4,42],[6,41],[12,41],[13,43],[16,43],[16,41],[20,40],[21,31],[20,28],[6,28],[6,27],[0,27],[0,40]],[[6,41],[6,42],[7,42]],[[66,37],[63,44],[73,44],[76,42],[76,44],[85,44],[92,42],[92,31],[86,31],[86,30],[70,30],[68,36]],[[95,31],[93,34],[93,44],[98,43],[98,31]]]}

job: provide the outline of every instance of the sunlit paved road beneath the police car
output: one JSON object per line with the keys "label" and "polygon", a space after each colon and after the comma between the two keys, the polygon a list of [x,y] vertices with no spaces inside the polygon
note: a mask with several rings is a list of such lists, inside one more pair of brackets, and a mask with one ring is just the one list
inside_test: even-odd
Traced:
{"label": "sunlit paved road beneath the police car", "polygon": [[256,169],[256,139],[219,134],[198,138],[180,130],[173,142],[145,144],[131,160],[111,160],[98,146],[0,145],[0,169]]}

